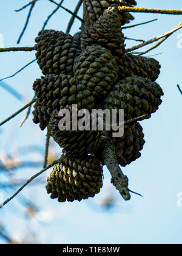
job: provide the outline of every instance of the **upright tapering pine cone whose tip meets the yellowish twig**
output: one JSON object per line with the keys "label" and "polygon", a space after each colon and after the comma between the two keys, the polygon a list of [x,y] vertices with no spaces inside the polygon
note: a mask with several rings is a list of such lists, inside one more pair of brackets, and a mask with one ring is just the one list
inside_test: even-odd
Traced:
{"label": "upright tapering pine cone whose tip meets the yellowish twig", "polygon": [[115,59],[122,59],[125,52],[124,35],[121,32],[118,9],[109,7],[81,38],[81,48],[100,44],[110,50]]}

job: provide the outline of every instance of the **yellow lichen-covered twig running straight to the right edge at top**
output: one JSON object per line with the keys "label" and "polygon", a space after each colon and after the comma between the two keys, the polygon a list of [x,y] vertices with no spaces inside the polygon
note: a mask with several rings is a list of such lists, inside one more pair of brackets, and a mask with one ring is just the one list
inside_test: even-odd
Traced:
{"label": "yellow lichen-covered twig running straight to the right edge at top", "polygon": [[128,6],[119,6],[118,9],[121,12],[140,12],[140,13],[160,13],[160,14],[170,14],[170,15],[181,15],[182,10],[167,10],[167,9],[152,9],[152,8],[137,8]]}

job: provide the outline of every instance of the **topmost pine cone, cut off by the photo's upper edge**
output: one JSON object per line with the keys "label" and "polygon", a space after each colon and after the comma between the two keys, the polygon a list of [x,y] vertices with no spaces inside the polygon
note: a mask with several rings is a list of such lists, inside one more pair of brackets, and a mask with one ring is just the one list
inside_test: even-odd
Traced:
{"label": "topmost pine cone, cut off by the photo's upper edge", "polygon": [[[84,0],[84,20],[87,26],[93,25],[110,6],[118,7],[119,5],[131,6],[136,5],[136,2],[133,0]],[[134,20],[134,17],[128,12],[123,12],[120,13],[120,20],[121,25],[124,25]]]}

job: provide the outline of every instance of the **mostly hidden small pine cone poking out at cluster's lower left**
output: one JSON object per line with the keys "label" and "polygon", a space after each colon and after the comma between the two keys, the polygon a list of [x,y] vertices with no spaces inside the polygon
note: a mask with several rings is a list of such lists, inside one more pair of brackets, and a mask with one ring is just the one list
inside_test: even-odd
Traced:
{"label": "mostly hidden small pine cone poking out at cluster's lower left", "polygon": [[45,108],[39,104],[38,99],[36,100],[33,107],[33,123],[39,124],[41,130],[44,130],[45,127],[47,127],[47,125],[49,124],[50,116],[47,114]]}

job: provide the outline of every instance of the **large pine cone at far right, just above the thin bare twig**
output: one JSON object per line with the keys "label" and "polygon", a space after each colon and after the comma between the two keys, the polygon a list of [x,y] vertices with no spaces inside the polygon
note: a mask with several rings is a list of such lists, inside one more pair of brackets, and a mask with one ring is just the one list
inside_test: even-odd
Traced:
{"label": "large pine cone at far right, just above the thin bare twig", "polygon": [[161,104],[163,90],[156,82],[143,77],[131,76],[120,80],[107,99],[104,108],[124,109],[124,119],[128,120],[141,115],[151,114]]}

